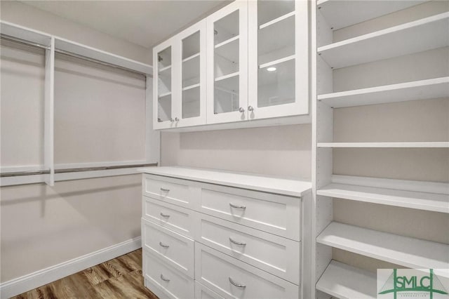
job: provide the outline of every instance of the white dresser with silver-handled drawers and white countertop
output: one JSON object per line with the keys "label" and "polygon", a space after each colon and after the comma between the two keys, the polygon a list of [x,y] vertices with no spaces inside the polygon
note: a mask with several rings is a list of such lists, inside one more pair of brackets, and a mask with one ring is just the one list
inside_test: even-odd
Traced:
{"label": "white dresser with silver-handled drawers and white countertop", "polygon": [[311,183],[140,169],[145,286],[159,298],[300,298]]}

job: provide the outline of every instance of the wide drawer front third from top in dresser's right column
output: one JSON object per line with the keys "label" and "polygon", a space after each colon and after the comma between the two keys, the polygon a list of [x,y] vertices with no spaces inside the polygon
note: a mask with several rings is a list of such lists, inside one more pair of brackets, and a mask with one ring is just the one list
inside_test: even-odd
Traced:
{"label": "wide drawer front third from top in dresser's right column", "polygon": [[295,284],[196,244],[195,279],[225,298],[299,298]]}

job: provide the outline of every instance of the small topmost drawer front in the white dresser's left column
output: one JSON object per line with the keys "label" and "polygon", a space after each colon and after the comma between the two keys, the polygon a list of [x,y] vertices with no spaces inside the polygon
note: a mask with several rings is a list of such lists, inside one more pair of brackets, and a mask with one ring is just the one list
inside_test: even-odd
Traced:
{"label": "small topmost drawer front in the white dresser's left column", "polygon": [[[163,178],[157,175],[143,175],[143,194],[147,197],[159,199],[161,201],[194,208],[192,198],[194,198],[194,187],[189,186],[186,180],[175,178]],[[196,188],[199,189],[199,188]]]}

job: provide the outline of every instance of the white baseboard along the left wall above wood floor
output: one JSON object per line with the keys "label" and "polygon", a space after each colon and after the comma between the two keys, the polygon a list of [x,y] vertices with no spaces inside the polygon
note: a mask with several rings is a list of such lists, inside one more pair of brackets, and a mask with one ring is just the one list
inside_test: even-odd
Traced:
{"label": "white baseboard along the left wall above wood floor", "polygon": [[140,247],[142,247],[142,242],[140,237],[137,237],[100,249],[99,251],[94,251],[93,253],[82,255],[79,258],[67,260],[67,262],[16,279],[11,279],[10,281],[0,284],[0,298],[11,298],[15,295],[32,290],[33,288],[38,288],[44,284],[49,284],[52,281],[104,263],[107,260],[112,260],[120,255],[135,251]]}

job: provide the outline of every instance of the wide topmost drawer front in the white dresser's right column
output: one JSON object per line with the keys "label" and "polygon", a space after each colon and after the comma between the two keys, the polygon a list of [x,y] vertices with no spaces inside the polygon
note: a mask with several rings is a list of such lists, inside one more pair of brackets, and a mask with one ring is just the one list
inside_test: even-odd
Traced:
{"label": "wide topmost drawer front in the white dresser's right column", "polygon": [[300,241],[300,206],[295,197],[205,184],[199,211]]}

